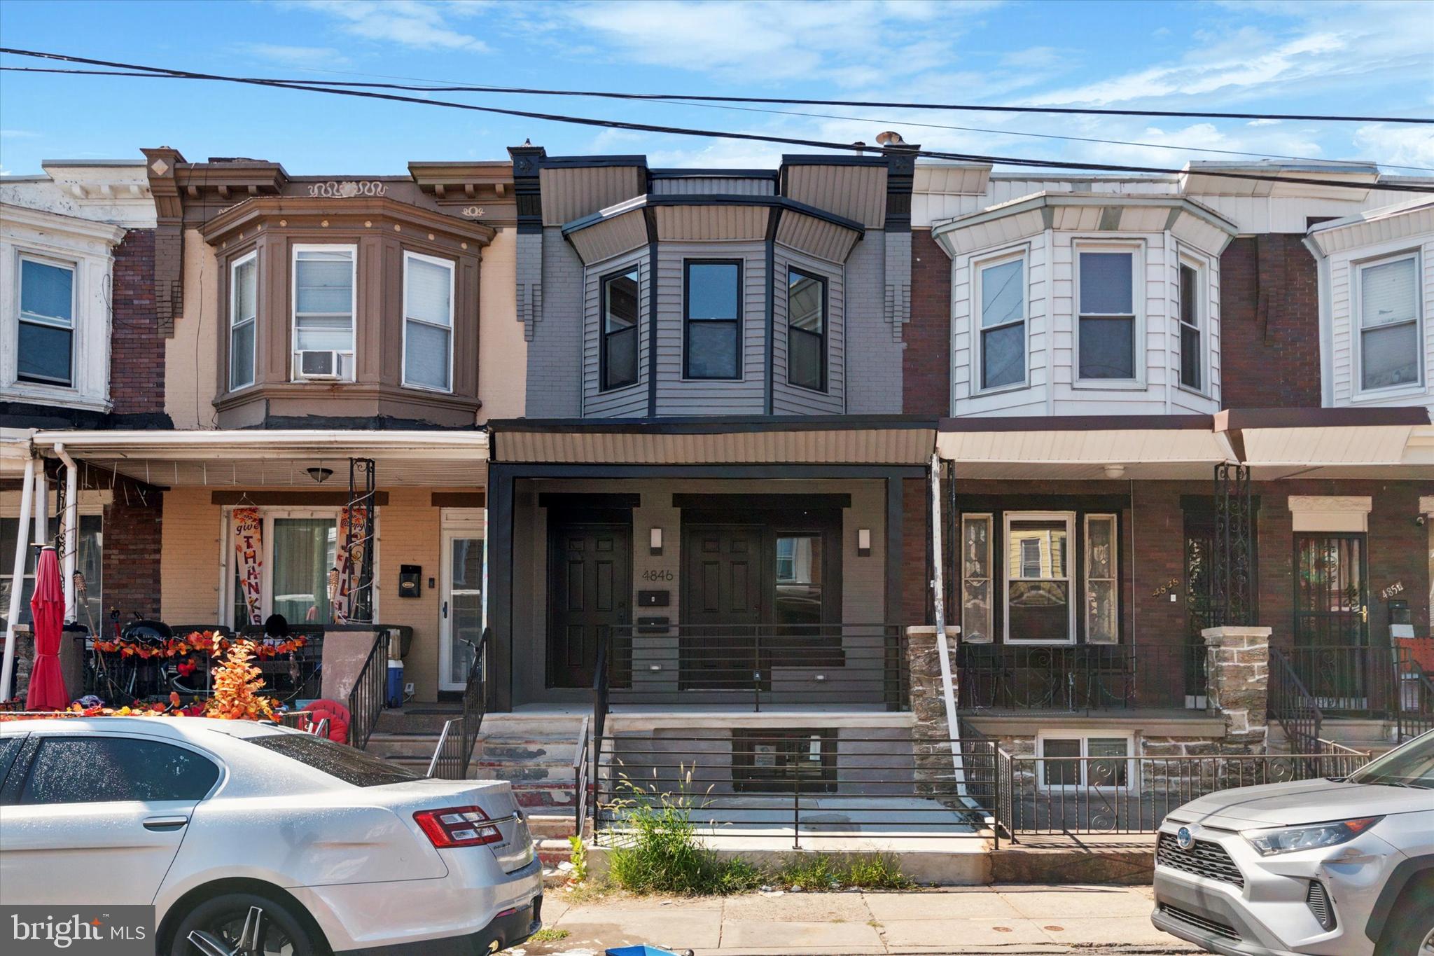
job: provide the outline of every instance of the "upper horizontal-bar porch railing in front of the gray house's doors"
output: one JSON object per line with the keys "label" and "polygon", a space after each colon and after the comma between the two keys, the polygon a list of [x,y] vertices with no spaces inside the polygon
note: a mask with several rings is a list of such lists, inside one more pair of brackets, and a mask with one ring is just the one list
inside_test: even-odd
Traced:
{"label": "upper horizontal-bar porch railing in front of the gray house's doors", "polygon": [[624,625],[605,649],[611,707],[908,707],[902,625]]}

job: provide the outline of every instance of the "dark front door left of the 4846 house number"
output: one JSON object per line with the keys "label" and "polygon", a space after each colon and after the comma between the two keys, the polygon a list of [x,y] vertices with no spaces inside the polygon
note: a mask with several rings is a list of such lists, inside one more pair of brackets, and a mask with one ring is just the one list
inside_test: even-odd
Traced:
{"label": "dark front door left of the 4846 house number", "polygon": [[628,526],[556,523],[548,542],[548,687],[591,688],[598,646],[628,623]]}

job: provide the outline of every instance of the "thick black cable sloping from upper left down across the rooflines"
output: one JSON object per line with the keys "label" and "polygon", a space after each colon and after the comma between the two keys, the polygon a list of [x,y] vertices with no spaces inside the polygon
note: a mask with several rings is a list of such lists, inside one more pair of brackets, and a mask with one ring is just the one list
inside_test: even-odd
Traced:
{"label": "thick black cable sloping from upper left down across the rooflines", "polygon": [[[827,142],[827,140],[820,140],[820,139],[800,139],[800,138],[794,138],[794,136],[770,136],[770,135],[764,135],[764,133],[741,133],[741,132],[723,132],[723,130],[711,130],[711,129],[690,129],[690,128],[684,128],[684,126],[660,126],[660,125],[654,125],[654,123],[631,123],[631,122],[625,122],[625,120],[595,119],[595,118],[589,118],[589,116],[566,116],[566,115],[562,115],[562,113],[539,113],[539,112],[532,112],[532,110],[502,109],[502,107],[498,107],[498,106],[476,106],[473,103],[456,103],[456,102],[452,102],[452,100],[423,99],[423,97],[419,97],[419,96],[399,96],[396,93],[377,93],[377,92],[369,92],[369,90],[357,90],[357,89],[337,89],[337,87],[330,87],[330,86],[315,86],[313,83],[288,83],[288,82],[277,82],[277,80],[267,80],[267,79],[248,77],[248,76],[224,76],[224,75],[219,75],[219,73],[198,73],[198,72],[192,72],[192,70],[174,70],[174,69],[166,69],[166,67],[152,67],[152,66],[142,66],[142,64],[135,64],[135,63],[118,63],[118,62],[112,62],[112,60],[96,60],[96,59],[90,59],[90,57],[66,56],[66,54],[59,54],[59,53],[37,53],[37,52],[33,52],[33,50],[17,50],[17,49],[11,49],[11,47],[0,47],[0,53],[13,53],[13,54],[17,54],[17,56],[32,56],[32,57],[39,57],[39,59],[62,60],[62,62],[67,62],[67,63],[85,63],[85,64],[89,64],[89,66],[108,66],[108,67],[116,67],[116,69],[123,69],[123,70],[143,70],[146,73],[159,75],[159,76],[165,76],[165,77],[171,77],[171,79],[218,80],[218,82],[227,82],[227,83],[244,83],[244,85],[250,85],[250,86],[268,86],[268,87],[272,87],[272,89],[308,90],[308,92],[313,92],[313,93],[327,93],[330,96],[357,96],[357,97],[363,97],[363,99],[377,99],[377,100],[389,100],[389,102],[397,102],[397,103],[417,103],[417,105],[422,105],[422,106],[442,106],[442,107],[446,107],[446,109],[462,109],[462,110],[470,110],[470,112],[478,112],[478,113],[493,113],[493,115],[499,115],[499,116],[519,116],[519,118],[523,118],[523,119],[539,119],[539,120],[548,120],[548,122],[556,122],[556,123],[574,123],[574,125],[579,125],[579,126],[595,126],[595,128],[601,128],[601,129],[625,129],[625,130],[632,130],[632,132],[665,133],[665,135],[677,135],[677,136],[701,136],[701,138],[708,138],[708,139],[740,139],[740,140],[747,140],[747,142],[784,143],[784,145],[793,145],[793,146],[809,146],[809,148],[813,148],[813,149],[839,149],[839,150],[859,152],[859,153],[875,152],[875,149],[879,149],[879,148],[870,148],[870,146],[858,145],[858,143],[837,143],[837,142]],[[1167,168],[1167,166],[1134,166],[1134,165],[1119,165],[1119,163],[1057,162],[1057,161],[1048,161],[1048,159],[1024,159],[1024,158],[1020,158],[1020,156],[988,156],[988,155],[981,155],[981,153],[955,153],[955,152],[944,152],[944,150],[934,150],[934,149],[913,149],[913,150],[909,152],[909,155],[912,155],[912,156],[925,156],[925,158],[929,158],[929,159],[948,159],[948,161],[955,161],[955,162],[1002,163],[1002,165],[1012,165],[1012,166],[1031,166],[1031,168],[1045,168],[1045,169],[1050,169],[1050,168],[1055,168],[1055,169],[1088,169],[1088,171],[1097,171],[1097,172],[1141,172],[1141,173],[1167,173],[1167,175],[1180,175],[1182,172],[1184,172],[1184,171],[1172,169],[1172,168]],[[1269,176],[1269,175],[1260,175],[1260,173],[1230,172],[1230,171],[1200,171],[1200,175],[1207,175],[1207,176],[1215,176],[1215,178],[1222,178],[1222,179],[1253,179],[1253,181],[1263,181],[1263,182],[1304,183],[1304,185],[1316,185],[1316,186],[1347,186],[1347,188],[1357,188],[1357,189],[1368,189],[1369,188],[1368,183],[1334,183],[1334,182],[1329,182],[1326,179],[1312,179],[1312,178],[1301,178],[1301,176]],[[1380,183],[1380,188],[1381,189],[1387,189],[1387,191],[1392,191],[1392,192],[1434,193],[1434,186],[1417,186],[1417,185],[1408,185],[1408,183]]]}

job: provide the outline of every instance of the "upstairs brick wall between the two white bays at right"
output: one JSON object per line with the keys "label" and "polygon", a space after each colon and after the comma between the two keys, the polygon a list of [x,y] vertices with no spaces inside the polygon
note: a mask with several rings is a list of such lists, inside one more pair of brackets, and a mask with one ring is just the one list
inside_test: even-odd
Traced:
{"label": "upstairs brick wall between the two white bays at right", "polygon": [[1226,408],[1321,406],[1319,287],[1298,235],[1260,234],[1220,257],[1220,388]]}

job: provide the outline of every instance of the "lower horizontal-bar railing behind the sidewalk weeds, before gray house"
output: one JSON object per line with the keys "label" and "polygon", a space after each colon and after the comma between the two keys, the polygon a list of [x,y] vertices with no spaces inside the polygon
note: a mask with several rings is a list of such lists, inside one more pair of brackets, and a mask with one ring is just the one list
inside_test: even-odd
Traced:
{"label": "lower horizontal-bar railing behind the sidewalk weeds, before gray house", "polygon": [[[869,731],[866,731],[869,734]],[[901,735],[761,730],[594,740],[594,826],[621,843],[642,808],[677,810],[704,840],[974,838],[995,807],[995,745]]]}

